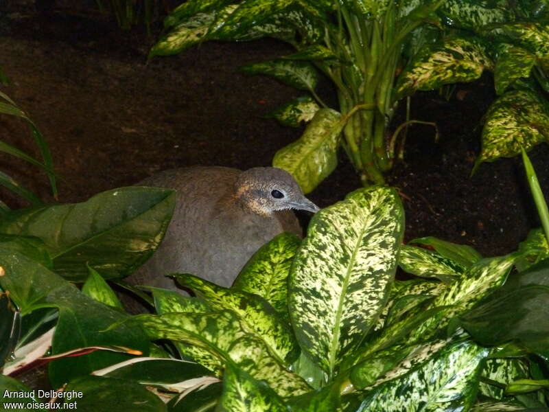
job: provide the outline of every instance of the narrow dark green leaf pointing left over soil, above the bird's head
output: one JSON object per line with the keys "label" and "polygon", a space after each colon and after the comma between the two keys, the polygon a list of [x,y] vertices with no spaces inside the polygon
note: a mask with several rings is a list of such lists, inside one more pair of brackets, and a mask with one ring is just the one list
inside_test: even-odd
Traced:
{"label": "narrow dark green leaf pointing left over soil, above the bird's head", "polygon": [[242,67],[246,74],[266,74],[299,90],[313,91],[318,83],[318,71],[299,60],[270,60]]}

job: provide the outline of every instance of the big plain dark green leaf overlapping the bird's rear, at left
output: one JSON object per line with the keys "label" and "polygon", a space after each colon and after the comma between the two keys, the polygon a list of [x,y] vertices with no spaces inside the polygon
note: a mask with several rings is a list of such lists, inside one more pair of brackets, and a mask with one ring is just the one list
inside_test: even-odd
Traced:
{"label": "big plain dark green leaf overlapping the bird's rear, at left", "polygon": [[67,279],[86,279],[86,264],[106,279],[124,277],[158,247],[174,204],[172,190],[123,187],[84,203],[13,211],[0,232],[43,240],[56,273]]}

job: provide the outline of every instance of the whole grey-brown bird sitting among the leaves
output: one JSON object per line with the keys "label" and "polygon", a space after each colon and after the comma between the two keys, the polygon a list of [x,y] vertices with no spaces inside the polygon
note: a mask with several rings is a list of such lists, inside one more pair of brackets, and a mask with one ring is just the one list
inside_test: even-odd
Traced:
{"label": "whole grey-brown bird sitting among the leaves", "polygon": [[138,183],[176,190],[176,207],[159,248],[130,284],[179,290],[170,273],[191,273],[230,287],[253,253],[281,232],[302,236],[291,209],[316,213],[293,176],[273,167],[165,170]]}

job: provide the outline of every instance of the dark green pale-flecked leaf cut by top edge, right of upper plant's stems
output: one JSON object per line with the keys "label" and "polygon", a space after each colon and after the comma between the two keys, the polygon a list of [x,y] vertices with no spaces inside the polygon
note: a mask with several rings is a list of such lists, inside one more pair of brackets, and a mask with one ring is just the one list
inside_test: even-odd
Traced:
{"label": "dark green pale-flecked leaf cut by top edge, right of upper plant's stems", "polygon": [[515,18],[506,0],[445,0],[437,13],[445,24],[470,30]]}

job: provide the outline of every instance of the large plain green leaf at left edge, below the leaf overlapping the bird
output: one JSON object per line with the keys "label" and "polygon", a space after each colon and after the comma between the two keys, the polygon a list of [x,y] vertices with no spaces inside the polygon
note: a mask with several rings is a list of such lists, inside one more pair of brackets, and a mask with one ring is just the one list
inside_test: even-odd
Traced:
{"label": "large plain green leaf at left edge, below the leaf overlapping the bird", "polygon": [[[148,352],[148,341],[139,328],[130,328],[125,323],[114,329],[109,328],[113,323],[127,319],[125,314],[83,295],[47,268],[24,255],[3,251],[0,251],[0,266],[5,271],[5,275],[0,277],[0,286],[10,292],[10,297],[23,314],[37,308],[59,309],[52,354],[81,347],[115,345],[145,354]],[[126,354],[108,351],[62,358],[50,363],[49,378],[54,387],[60,387],[70,378],[89,374],[127,358]]]}

